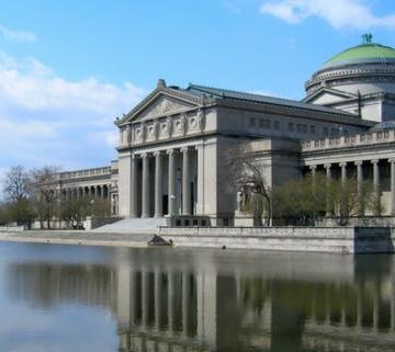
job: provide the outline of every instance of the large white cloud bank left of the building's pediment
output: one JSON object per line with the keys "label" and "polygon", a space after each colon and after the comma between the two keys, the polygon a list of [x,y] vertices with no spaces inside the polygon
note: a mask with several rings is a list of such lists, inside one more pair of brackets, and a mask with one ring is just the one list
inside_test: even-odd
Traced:
{"label": "large white cloud bank left of the building's pediment", "polygon": [[67,80],[34,58],[0,53],[0,169],[105,166],[114,158],[116,116],[146,91],[94,77]]}

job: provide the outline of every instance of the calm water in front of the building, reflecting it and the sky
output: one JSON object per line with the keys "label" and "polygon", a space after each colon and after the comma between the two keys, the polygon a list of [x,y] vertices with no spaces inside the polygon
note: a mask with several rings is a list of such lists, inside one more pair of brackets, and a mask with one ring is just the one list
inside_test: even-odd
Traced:
{"label": "calm water in front of the building, reflecting it and the sky", "polygon": [[0,242],[0,351],[395,351],[393,256]]}

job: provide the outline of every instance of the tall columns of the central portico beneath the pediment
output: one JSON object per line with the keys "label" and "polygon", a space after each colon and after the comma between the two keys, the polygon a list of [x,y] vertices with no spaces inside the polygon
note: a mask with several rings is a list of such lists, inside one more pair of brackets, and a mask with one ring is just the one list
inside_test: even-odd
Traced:
{"label": "tall columns of the central portico beneath the pediment", "polygon": [[[181,204],[181,215],[188,216],[194,213],[192,203],[198,197],[198,191],[193,191],[196,185],[193,172],[198,170],[199,158],[199,152],[195,157],[196,149],[183,147],[133,154],[131,162],[129,206],[129,216],[132,218],[151,217],[151,201],[154,201],[154,217],[174,215],[178,211],[176,208],[178,204]],[[154,163],[154,168],[150,167],[151,163]],[[167,167],[167,172],[165,172],[165,166]],[[151,186],[153,177],[154,188]],[[163,209],[165,178],[167,178],[167,212]],[[181,181],[180,192],[177,190],[177,181]],[[151,194],[151,192],[154,193]],[[192,198],[193,195],[194,198]]]}

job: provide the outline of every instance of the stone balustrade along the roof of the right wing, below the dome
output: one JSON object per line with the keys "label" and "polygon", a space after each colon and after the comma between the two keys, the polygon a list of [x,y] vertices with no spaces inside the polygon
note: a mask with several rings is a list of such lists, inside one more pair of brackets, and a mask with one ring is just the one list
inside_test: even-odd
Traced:
{"label": "stone balustrade along the roof of the right wing, below the dome", "polygon": [[325,149],[347,148],[363,145],[375,145],[395,141],[395,129],[372,130],[369,133],[341,136],[334,138],[303,140],[302,152],[316,151]]}

